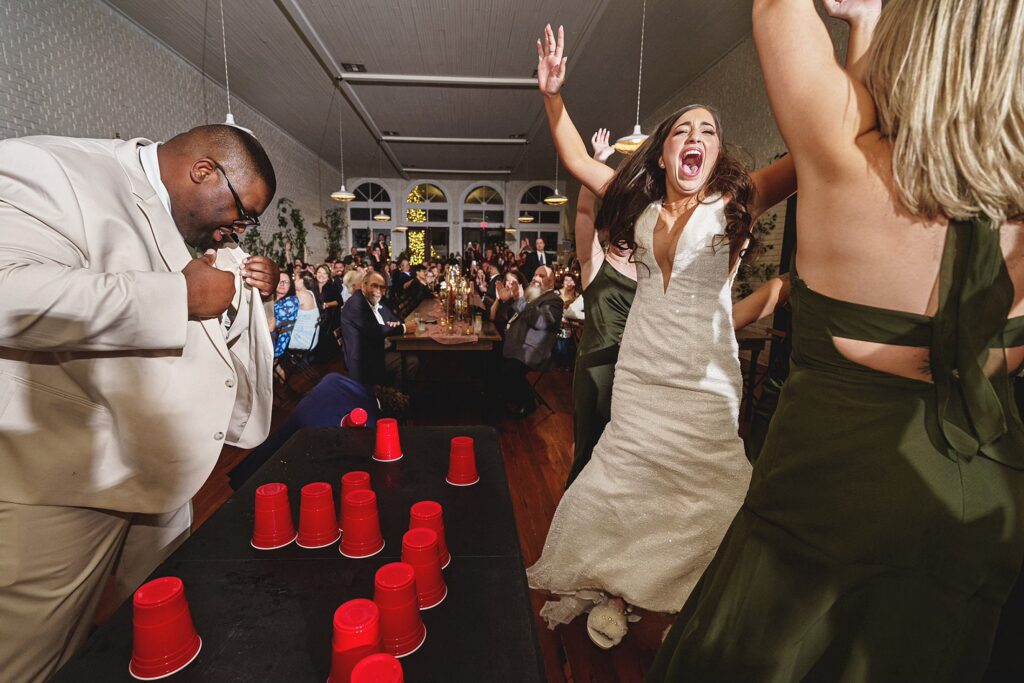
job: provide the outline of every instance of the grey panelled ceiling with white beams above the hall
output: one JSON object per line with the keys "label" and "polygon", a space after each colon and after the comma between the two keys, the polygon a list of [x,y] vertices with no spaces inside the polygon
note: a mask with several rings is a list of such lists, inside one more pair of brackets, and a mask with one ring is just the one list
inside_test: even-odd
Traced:
{"label": "grey panelled ceiling with white beams above the hall", "polygon": [[[218,0],[106,0],[211,79],[223,83]],[[223,0],[231,92],[337,166],[338,106],[350,177],[511,170],[551,177],[554,148],[531,79],[545,23],[566,31],[564,97],[581,133],[630,132],[636,115],[640,0]],[[647,0],[640,116],[750,34],[750,0]],[[368,75],[520,79],[407,85]],[[347,78],[353,78],[348,76]],[[221,120],[212,109],[211,120]],[[239,122],[245,125],[244,121]],[[525,136],[528,144],[385,141]],[[443,175],[442,177],[460,177]],[[468,176],[464,176],[468,177]],[[502,177],[502,176],[498,176]]]}

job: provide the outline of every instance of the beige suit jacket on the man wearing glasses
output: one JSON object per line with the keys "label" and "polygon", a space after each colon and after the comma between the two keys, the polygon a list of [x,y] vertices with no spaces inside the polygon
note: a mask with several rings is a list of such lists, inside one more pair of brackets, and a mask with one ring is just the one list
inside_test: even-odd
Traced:
{"label": "beige suit jacket on the man wearing glasses", "polygon": [[189,321],[189,254],[147,181],[148,140],[0,141],[0,501],[159,513],[225,442],[270,425],[273,349],[236,273],[234,317]]}

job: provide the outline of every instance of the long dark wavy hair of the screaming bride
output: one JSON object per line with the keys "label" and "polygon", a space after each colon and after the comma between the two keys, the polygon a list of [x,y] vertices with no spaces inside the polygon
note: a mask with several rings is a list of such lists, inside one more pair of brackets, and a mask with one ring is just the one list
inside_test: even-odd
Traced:
{"label": "long dark wavy hair of the screaming bride", "polygon": [[754,182],[748,166],[726,147],[718,112],[706,104],[690,104],[658,124],[654,134],[615,171],[604,190],[604,199],[595,222],[598,229],[607,228],[608,242],[620,249],[636,250],[637,219],[651,202],[665,200],[666,170],[657,165],[662,148],[679,117],[697,109],[711,112],[721,143],[718,161],[702,193],[705,197],[723,195],[730,198],[725,206],[724,241],[732,248],[741,247],[748,240],[754,246],[752,216],[748,208],[754,197]]}

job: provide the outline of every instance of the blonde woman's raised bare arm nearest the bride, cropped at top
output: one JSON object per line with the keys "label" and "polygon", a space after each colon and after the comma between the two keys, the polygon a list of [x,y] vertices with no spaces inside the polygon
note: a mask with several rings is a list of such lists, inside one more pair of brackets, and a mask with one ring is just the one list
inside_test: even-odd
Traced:
{"label": "blonde woman's raised bare arm nearest the bride, cropped at top", "polygon": [[[863,0],[845,0],[854,1]],[[754,0],[754,41],[775,121],[798,166],[829,174],[852,162],[855,140],[876,126],[874,103],[836,61],[814,0]]]}

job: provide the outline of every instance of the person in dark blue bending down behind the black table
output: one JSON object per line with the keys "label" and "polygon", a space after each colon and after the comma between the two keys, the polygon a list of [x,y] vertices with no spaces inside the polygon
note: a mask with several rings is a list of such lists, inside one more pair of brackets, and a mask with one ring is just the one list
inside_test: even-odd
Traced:
{"label": "person in dark blue bending down behind the black table", "polygon": [[367,412],[366,426],[372,428],[379,418],[401,418],[409,408],[409,397],[390,387],[368,387],[338,373],[326,375],[281,427],[227,473],[231,488],[241,488],[295,432],[306,427],[338,427],[357,408]]}

